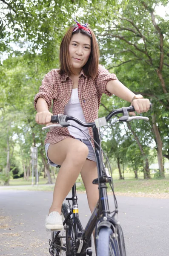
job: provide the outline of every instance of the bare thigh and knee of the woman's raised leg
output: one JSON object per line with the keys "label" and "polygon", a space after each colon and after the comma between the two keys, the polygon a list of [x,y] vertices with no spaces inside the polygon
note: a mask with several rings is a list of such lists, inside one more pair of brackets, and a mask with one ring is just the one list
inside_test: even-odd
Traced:
{"label": "bare thigh and knee of the woman's raised leg", "polygon": [[58,143],[49,145],[48,157],[53,163],[62,165],[66,157],[77,162],[85,159],[88,152],[88,147],[83,142],[73,138],[66,138]]}

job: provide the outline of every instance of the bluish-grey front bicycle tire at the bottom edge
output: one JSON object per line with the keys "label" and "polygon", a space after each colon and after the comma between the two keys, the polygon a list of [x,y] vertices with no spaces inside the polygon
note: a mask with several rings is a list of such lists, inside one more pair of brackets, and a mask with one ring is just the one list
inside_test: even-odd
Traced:
{"label": "bluish-grey front bicycle tire at the bottom edge", "polygon": [[102,227],[96,241],[97,256],[120,256],[117,241],[112,237],[113,231],[109,227]]}

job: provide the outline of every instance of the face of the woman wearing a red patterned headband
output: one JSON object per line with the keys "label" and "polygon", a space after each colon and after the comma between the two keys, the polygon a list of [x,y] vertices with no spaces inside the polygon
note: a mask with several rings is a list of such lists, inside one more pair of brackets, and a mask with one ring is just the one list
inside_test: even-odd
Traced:
{"label": "face of the woman wearing a red patterned headband", "polygon": [[69,44],[69,54],[76,73],[80,74],[82,67],[89,59],[91,39],[81,33],[74,34]]}

